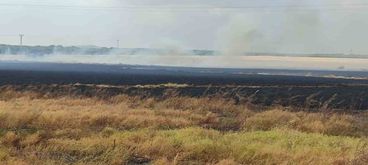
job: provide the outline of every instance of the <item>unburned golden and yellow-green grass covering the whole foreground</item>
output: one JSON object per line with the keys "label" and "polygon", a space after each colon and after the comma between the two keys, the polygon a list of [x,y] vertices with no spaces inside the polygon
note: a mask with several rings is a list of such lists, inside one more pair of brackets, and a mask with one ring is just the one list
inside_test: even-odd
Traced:
{"label": "unburned golden and yellow-green grass covering the whole foreground", "polygon": [[81,84],[64,86],[70,93],[46,90],[45,86],[1,88],[0,164],[368,162],[364,111],[333,111],[329,104],[319,112],[281,106],[256,110],[250,100],[237,103],[219,96],[193,98],[175,90],[165,90],[161,96],[129,96],[111,95],[103,90],[108,86],[99,86],[96,95],[86,95],[75,92],[75,86]]}

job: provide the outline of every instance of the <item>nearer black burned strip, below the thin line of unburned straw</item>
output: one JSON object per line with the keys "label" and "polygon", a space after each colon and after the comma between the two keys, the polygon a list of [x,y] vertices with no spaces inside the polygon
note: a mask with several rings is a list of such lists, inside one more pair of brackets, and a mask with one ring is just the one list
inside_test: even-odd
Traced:
{"label": "nearer black burned strip, below the thin line of unburned straw", "polygon": [[260,109],[272,107],[293,107],[340,110],[368,109],[366,85],[325,85],[325,86],[193,86],[173,84],[171,86],[104,86],[104,85],[2,85],[1,91],[12,89],[18,92],[33,91],[48,97],[98,97],[110,98],[126,94],[144,98],[194,97],[232,99],[236,104],[251,103]]}

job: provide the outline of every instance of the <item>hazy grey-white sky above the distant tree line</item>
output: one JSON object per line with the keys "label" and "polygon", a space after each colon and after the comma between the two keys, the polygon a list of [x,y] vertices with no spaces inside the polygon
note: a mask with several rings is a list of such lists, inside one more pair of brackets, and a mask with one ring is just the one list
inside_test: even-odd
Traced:
{"label": "hazy grey-white sky above the distant tree line", "polygon": [[[366,0],[1,0],[0,3],[217,7],[349,4]],[[368,5],[241,10],[368,8]],[[130,9],[151,10],[151,9]],[[160,10],[160,9],[159,9]],[[167,9],[161,9],[167,10]],[[176,9],[193,10],[193,9]],[[207,9],[213,11],[213,9]],[[236,9],[234,9],[236,10]],[[207,49],[226,52],[368,54],[368,9],[280,12],[134,12],[0,5],[0,43]]]}

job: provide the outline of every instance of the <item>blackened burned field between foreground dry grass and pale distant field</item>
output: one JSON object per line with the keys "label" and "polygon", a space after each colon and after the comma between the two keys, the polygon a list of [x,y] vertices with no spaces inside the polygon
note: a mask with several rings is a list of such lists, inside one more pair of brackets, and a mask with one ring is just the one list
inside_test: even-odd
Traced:
{"label": "blackened burned field between foreground dry grass and pale distant field", "polygon": [[[198,72],[200,68],[158,66],[134,69],[121,65],[5,63],[0,68],[2,90],[31,90],[54,96],[110,97],[127,94],[163,98],[170,93],[195,98],[233,99],[237,104],[249,102],[264,107],[368,109],[368,80],[229,73],[241,69],[206,68]],[[343,75],[358,73],[364,75],[364,72],[339,72]],[[173,85],[164,85],[168,83]]]}

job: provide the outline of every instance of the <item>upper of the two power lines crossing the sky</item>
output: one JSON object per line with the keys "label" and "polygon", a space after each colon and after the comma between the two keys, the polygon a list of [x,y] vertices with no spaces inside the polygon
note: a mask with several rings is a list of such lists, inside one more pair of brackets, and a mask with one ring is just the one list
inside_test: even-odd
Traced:
{"label": "upper of the two power lines crossing the sky", "polygon": [[0,5],[13,6],[37,6],[37,7],[71,7],[71,8],[151,8],[151,9],[205,9],[205,8],[277,8],[277,7],[318,7],[318,6],[355,6],[368,5],[368,3],[351,4],[309,4],[309,5],[275,5],[275,6],[218,6],[218,7],[111,7],[111,6],[71,6],[71,5],[36,5],[36,4],[14,4],[0,3]]}

